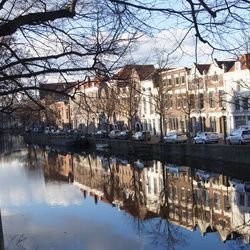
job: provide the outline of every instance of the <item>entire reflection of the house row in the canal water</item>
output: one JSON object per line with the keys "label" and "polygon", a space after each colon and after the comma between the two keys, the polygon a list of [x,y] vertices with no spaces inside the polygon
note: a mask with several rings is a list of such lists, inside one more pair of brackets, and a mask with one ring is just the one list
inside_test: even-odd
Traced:
{"label": "entire reflection of the house row in the canal water", "polygon": [[[93,154],[51,156],[60,175],[74,173],[85,197],[108,203],[146,220],[155,216],[221,240],[250,237],[250,188],[221,174]],[[48,173],[51,174],[51,171]]]}

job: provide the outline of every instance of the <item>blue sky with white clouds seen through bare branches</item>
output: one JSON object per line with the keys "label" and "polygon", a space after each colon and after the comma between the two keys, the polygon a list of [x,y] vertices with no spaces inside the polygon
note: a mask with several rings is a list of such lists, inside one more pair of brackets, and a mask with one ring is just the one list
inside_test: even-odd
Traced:
{"label": "blue sky with white clouds seen through bare branches", "polygon": [[[206,3],[209,4],[209,6],[212,6],[212,10],[216,10],[219,7],[216,7],[214,5],[218,2],[207,1]],[[100,1],[100,3],[102,4],[103,2]],[[139,1],[131,0],[130,3],[138,4]],[[131,27],[133,25],[136,27],[137,35],[139,38],[136,41],[135,45],[128,50],[128,54],[126,55],[126,57],[121,58],[118,66],[115,65],[115,69],[120,68],[120,66],[124,66],[128,63],[154,64],[156,67],[191,67],[194,62],[211,63],[213,58],[219,60],[232,58],[232,54],[218,52],[216,50],[213,51],[211,47],[201,42],[198,42],[197,47],[195,46],[195,31],[193,28],[193,23],[190,21],[190,13],[187,13],[187,10],[190,10],[188,1],[143,1],[143,4],[147,3],[153,3],[157,8],[164,7],[169,8],[170,10],[174,9],[175,11],[179,11],[180,13],[163,14],[159,12],[151,12],[149,14],[147,11],[138,10],[129,6],[129,10],[134,15],[128,14],[127,19],[125,15],[125,23],[126,21],[131,23],[130,26],[125,25],[126,28],[124,30],[122,29],[122,34],[119,34],[118,39],[121,39],[122,41],[123,38],[129,36],[129,32],[127,32],[126,34],[126,31],[135,31],[133,30],[134,27]],[[106,5],[102,6],[105,7]],[[71,34],[73,40],[76,39],[77,42],[81,43],[81,46],[77,46],[77,43],[74,44],[73,40],[66,41],[65,43],[60,44],[60,39],[56,39],[58,34],[54,34],[50,30],[48,32],[49,35],[44,36],[43,32],[45,32],[45,29],[41,28],[40,26],[36,26],[34,29],[34,33],[28,31],[28,39],[32,40],[32,44],[35,46],[35,50],[32,50],[32,47],[29,48],[28,43],[26,43],[26,49],[29,49],[29,53],[31,55],[36,55],[36,53],[38,52],[40,55],[50,55],[51,53],[60,54],[62,51],[65,52],[70,50],[71,48],[76,51],[80,51],[79,49],[83,49],[83,51],[85,49],[88,50],[91,47],[97,46],[95,44],[95,39],[98,37],[96,34],[96,31],[98,29],[101,29],[101,33],[98,37],[100,41],[109,41],[109,38],[112,38],[115,34],[114,28],[117,28],[115,22],[118,22],[119,18],[112,18],[116,16],[112,16],[112,12],[110,12],[110,10],[105,10],[104,8],[104,12],[101,13],[104,18],[101,19],[101,26],[97,27],[97,21],[95,20],[96,16],[94,16],[93,19],[85,18],[91,17],[91,14],[89,15],[87,8],[82,8],[82,10],[82,16],[84,17],[83,19],[80,19],[79,15],[79,19],[73,18],[66,21],[64,20],[65,22],[58,26],[63,31],[65,31],[64,33],[60,33],[60,38],[66,40],[67,36]],[[246,29],[246,32],[244,34],[250,33],[247,32],[250,31],[250,27],[247,27],[246,25],[247,22],[243,22],[244,20],[248,21],[249,17],[247,18],[247,14],[249,14],[249,12],[235,8],[232,10],[235,11],[235,15],[238,14],[240,18],[243,18],[243,20],[241,20],[240,18],[238,18],[239,20],[232,20],[232,17],[229,15],[228,23],[226,25],[210,26],[210,24],[213,23],[214,20],[209,19],[211,18],[211,16],[206,11],[199,12],[199,14],[196,15],[202,37],[210,41],[215,47],[220,47],[227,50],[232,47],[232,45],[236,46],[237,44],[244,42],[242,39],[243,28]],[[222,22],[223,20],[225,20],[226,14],[227,13],[224,12],[217,13],[217,17],[215,20],[218,22]],[[131,20],[129,18],[131,18]],[[39,31],[40,33],[37,31]],[[184,37],[185,39],[183,39]],[[25,39],[27,39],[27,36],[25,37]],[[25,39],[20,40],[21,46],[23,46],[22,42],[24,42]],[[89,41],[90,43],[88,44]],[[236,54],[238,53],[239,56],[239,53],[244,53],[245,51],[244,48],[241,47],[235,52]],[[104,55],[103,57],[105,56],[106,61],[104,60],[104,62],[110,61],[112,64],[114,61],[116,61],[114,55],[111,56],[110,54],[108,54]],[[88,56],[76,56],[75,58],[76,59],[73,61],[73,64],[74,66],[76,64],[77,67],[92,66],[94,62],[93,58],[90,58]],[[56,67],[72,67],[72,62],[69,58],[62,60],[65,61],[62,62],[60,60],[57,60]],[[37,69],[39,69],[39,67],[37,67]],[[76,73],[75,76],[68,75],[67,78],[69,80],[70,78],[72,80],[79,80],[80,74],[82,74],[82,72]],[[84,77],[85,76],[83,76],[82,78],[84,79]],[[51,75],[49,75],[46,79],[49,79],[49,82],[58,81],[57,78],[52,77]]]}

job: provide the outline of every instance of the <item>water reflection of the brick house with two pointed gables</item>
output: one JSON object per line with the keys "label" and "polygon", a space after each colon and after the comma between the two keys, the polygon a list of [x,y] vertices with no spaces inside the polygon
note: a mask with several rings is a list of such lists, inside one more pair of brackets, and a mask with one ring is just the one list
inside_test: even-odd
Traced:
{"label": "water reflection of the brick house with two pointed gables", "polygon": [[202,234],[217,231],[231,239],[231,189],[223,175],[197,170],[193,180],[196,224]]}

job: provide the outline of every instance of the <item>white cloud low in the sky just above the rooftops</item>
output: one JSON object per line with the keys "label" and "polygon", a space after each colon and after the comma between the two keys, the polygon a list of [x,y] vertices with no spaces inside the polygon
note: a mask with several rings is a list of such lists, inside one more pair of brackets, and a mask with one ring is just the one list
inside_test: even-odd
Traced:
{"label": "white cloud low in the sky just above the rooftops", "polygon": [[[131,53],[131,57],[135,62],[157,64],[159,59],[166,60],[167,55],[170,54],[167,67],[191,67],[196,61],[195,36],[190,32],[182,45],[178,47],[185,35],[186,30],[176,29],[162,31],[154,37],[142,36],[138,41],[138,46]],[[198,63],[210,63],[214,57],[225,57],[225,54],[213,53],[207,44],[201,42],[198,42],[197,48]]]}

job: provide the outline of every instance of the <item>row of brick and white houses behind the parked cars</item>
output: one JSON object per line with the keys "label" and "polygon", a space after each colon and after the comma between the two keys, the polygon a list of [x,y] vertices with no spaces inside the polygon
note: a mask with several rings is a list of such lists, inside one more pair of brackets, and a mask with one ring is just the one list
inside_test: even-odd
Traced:
{"label": "row of brick and white houses behind the parked cars", "polygon": [[[126,65],[109,79],[88,78],[72,85],[74,99],[59,100],[58,127],[97,129],[214,131],[225,135],[250,124],[250,54],[191,68],[156,69]],[[62,104],[63,103],[63,104]],[[51,104],[52,105],[52,104]],[[65,114],[65,115],[63,115]]]}

